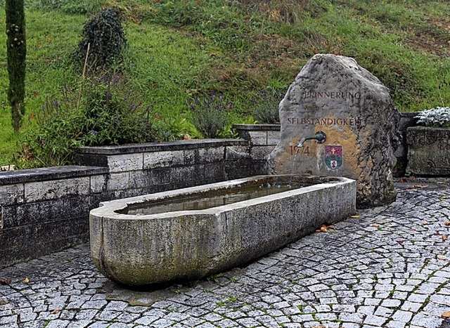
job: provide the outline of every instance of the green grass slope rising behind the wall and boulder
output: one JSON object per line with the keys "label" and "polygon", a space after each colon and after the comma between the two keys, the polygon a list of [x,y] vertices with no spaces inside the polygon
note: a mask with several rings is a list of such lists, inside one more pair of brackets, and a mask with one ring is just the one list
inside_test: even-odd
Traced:
{"label": "green grass slope rising behind the wall and boulder", "polygon": [[[1,1],[0,1],[1,4]],[[448,1],[96,0],[27,1],[27,119],[64,87],[77,88],[70,54],[88,13],[122,9],[129,48],[124,73],[162,117],[181,117],[188,98],[218,91],[235,103],[284,91],[315,53],[355,58],[391,89],[401,111],[450,103]],[[82,14],[79,14],[82,13]],[[0,22],[4,26],[4,11]],[[6,100],[6,34],[0,34],[0,164],[18,150]],[[187,116],[188,117],[188,116]]]}

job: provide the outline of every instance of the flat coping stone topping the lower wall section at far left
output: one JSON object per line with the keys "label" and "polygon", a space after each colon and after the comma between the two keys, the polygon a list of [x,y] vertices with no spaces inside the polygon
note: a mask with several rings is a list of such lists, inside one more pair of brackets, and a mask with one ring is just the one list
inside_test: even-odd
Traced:
{"label": "flat coping stone topping the lower wall section at far left", "polygon": [[108,173],[107,167],[77,165],[5,171],[0,173],[0,185],[77,178],[81,176],[94,176],[104,173]]}

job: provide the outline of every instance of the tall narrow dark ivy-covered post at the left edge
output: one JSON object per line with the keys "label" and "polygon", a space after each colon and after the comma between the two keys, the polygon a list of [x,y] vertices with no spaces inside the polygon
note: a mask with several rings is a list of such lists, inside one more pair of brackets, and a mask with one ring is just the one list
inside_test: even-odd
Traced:
{"label": "tall narrow dark ivy-covered post at the left edge", "polygon": [[25,8],[24,0],[6,0],[6,51],[8,57],[8,101],[15,133],[19,131],[25,114]]}

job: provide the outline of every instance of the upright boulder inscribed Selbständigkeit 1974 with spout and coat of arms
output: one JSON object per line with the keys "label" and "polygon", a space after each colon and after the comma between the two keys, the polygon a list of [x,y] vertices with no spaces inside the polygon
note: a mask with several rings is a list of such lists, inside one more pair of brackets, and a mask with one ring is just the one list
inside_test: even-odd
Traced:
{"label": "upright boulder inscribed Selbst\u00e4ndigkeit 1974 with spout and coat of arms", "polygon": [[353,58],[314,55],[279,110],[281,140],[269,155],[270,173],[353,178],[359,208],[394,201],[400,114],[389,89]]}

